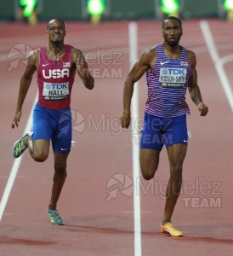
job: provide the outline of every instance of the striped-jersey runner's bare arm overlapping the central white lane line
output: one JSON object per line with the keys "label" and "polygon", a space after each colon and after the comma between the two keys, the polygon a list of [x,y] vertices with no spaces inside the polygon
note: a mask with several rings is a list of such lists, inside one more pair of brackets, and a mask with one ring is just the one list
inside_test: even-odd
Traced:
{"label": "striped-jersey runner's bare arm overlapping the central white lane line", "polygon": [[136,61],[134,67],[128,73],[123,90],[123,113],[121,125],[128,128],[130,125],[130,105],[134,93],[134,83],[136,83],[146,71],[150,71],[156,60],[156,48],[145,49],[140,55],[139,61]]}

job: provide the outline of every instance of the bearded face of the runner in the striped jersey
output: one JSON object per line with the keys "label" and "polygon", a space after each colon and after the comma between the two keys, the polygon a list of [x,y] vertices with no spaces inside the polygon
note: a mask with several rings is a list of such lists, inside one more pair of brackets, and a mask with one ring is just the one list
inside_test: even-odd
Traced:
{"label": "bearded face of the runner in the striped jersey", "polygon": [[171,47],[179,44],[182,37],[183,29],[179,24],[179,20],[165,20],[162,24],[162,37],[164,41]]}

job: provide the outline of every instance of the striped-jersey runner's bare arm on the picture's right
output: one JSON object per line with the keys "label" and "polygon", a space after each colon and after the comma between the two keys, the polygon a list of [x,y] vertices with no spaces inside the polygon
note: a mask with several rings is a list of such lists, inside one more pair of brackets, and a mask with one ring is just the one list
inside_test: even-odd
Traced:
{"label": "striped-jersey runner's bare arm on the picture's right", "polygon": [[191,100],[196,104],[197,108],[199,109],[200,115],[204,116],[204,115],[207,115],[208,108],[202,102],[201,91],[197,84],[196,55],[191,50],[187,50],[187,54],[188,54],[190,65],[191,65],[191,76],[190,76],[190,82],[188,85],[190,97],[191,97]]}

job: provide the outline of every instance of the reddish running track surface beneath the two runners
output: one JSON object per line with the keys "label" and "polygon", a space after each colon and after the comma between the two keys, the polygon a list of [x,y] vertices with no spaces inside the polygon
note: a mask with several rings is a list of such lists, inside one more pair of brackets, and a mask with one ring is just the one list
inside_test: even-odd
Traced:
{"label": "reddish running track surface beneath the two runners", "polygon": [[[207,20],[207,23],[219,58],[230,58],[232,24],[224,20]],[[65,226],[52,226],[45,213],[54,172],[52,152],[42,164],[32,161],[26,152],[3,209],[1,256],[232,255],[233,115],[200,20],[184,20],[181,40],[182,45],[196,52],[198,80],[204,102],[210,109],[206,118],[199,117],[187,96],[192,138],[185,160],[182,194],[173,214],[173,223],[184,232],[184,237],[177,239],[159,231],[168,181],[168,160],[163,150],[156,177],[147,183],[141,179],[141,253],[134,252],[131,135],[118,124],[123,82],[129,70],[128,22],[107,22],[99,26],[68,22],[67,25],[65,43],[82,49],[88,57],[95,88],[86,90],[78,78],[74,84],[71,108],[76,143],[68,160],[68,177],[58,205]],[[11,130],[25,53],[27,49],[47,44],[47,36],[45,23],[37,26],[3,23],[0,27],[2,198],[14,165],[12,146],[25,130],[37,95],[34,78],[20,127]],[[139,53],[162,41],[159,21],[139,21],[138,29]],[[16,65],[13,61],[19,58]],[[230,83],[232,67],[233,58],[224,65]],[[145,85],[143,78],[139,82],[140,118],[145,106]]]}

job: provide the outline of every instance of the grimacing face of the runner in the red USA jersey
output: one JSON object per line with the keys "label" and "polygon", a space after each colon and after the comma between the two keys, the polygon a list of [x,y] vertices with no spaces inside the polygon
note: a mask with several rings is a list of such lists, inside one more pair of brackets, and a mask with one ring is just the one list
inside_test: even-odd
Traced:
{"label": "grimacing face of the runner in the red USA jersey", "polygon": [[48,39],[50,42],[63,42],[65,38],[65,25],[61,20],[51,20],[48,23]]}

